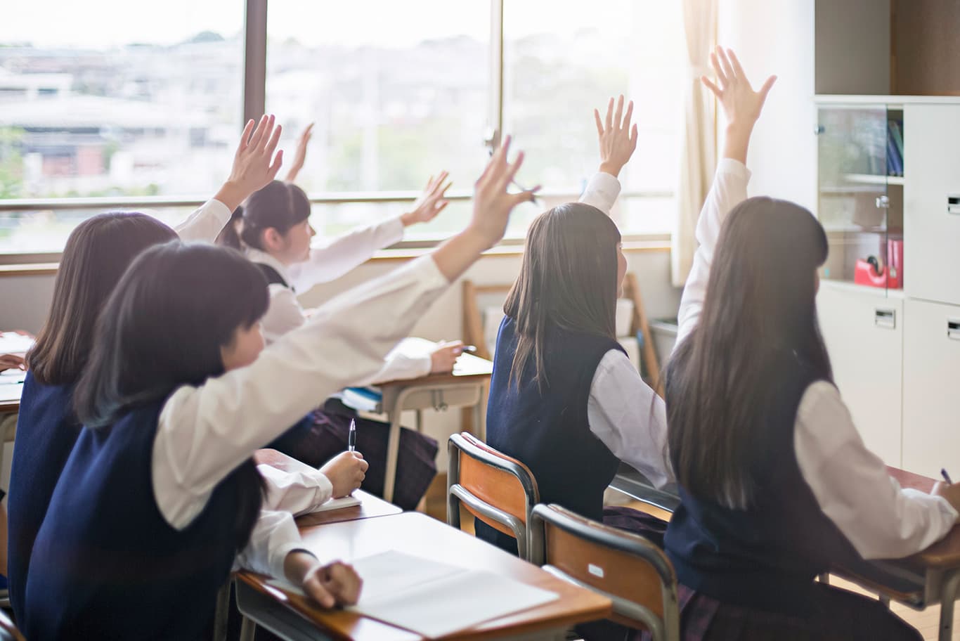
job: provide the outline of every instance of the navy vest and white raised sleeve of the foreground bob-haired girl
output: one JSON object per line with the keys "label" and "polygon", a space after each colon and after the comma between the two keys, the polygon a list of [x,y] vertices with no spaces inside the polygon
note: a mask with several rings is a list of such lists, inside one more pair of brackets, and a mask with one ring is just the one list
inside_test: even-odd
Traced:
{"label": "navy vest and white raised sleeve of the foreground bob-haired girl", "polygon": [[[84,429],[37,534],[25,634],[33,641],[124,637],[143,613],[150,625],[138,627],[137,638],[200,637],[208,623],[200,612],[212,615],[236,552],[238,536],[223,525],[233,525],[232,475],[318,393],[375,373],[416,312],[448,286],[424,256],[331,301],[252,365],[184,385],[108,428]],[[369,312],[366,322],[349,321],[361,311]],[[288,512],[281,516],[293,526]],[[290,549],[260,558],[281,575]],[[93,558],[102,569],[91,566]]]}

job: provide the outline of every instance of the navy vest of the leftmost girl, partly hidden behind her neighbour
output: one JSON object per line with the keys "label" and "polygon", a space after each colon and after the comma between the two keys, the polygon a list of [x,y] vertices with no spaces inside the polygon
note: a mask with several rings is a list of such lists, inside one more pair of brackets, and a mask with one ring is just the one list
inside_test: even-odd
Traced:
{"label": "navy vest of the leftmost girl, partly hidden behind her neighbour", "polygon": [[60,470],[80,435],[73,418],[72,385],[42,385],[27,372],[16,421],[8,510],[10,603],[23,619],[23,594],[36,531],[50,505]]}

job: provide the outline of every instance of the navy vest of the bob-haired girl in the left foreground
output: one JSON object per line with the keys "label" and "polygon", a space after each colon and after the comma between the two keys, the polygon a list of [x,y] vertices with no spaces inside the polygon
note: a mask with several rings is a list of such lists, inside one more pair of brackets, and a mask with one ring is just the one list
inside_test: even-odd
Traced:
{"label": "navy vest of the bob-haired girl in the left foreground", "polygon": [[240,474],[252,463],[220,482],[193,522],[175,530],[156,507],[151,479],[161,405],[81,432],[36,535],[17,622],[31,641],[208,633],[217,589],[243,543]]}

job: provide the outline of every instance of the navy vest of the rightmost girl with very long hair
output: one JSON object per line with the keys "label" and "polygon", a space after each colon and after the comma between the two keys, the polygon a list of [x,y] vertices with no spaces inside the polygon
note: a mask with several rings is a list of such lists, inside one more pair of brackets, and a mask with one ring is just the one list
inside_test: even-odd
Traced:
{"label": "navy vest of the rightmost girl with very long hair", "polygon": [[[675,362],[671,368],[682,367]],[[814,578],[831,562],[859,559],[852,544],[820,510],[794,451],[797,408],[814,382],[796,359],[785,361],[767,418],[768,456],[758,469],[759,496],[733,510],[681,487],[682,504],[664,539],[684,585],[732,605],[803,616]],[[671,397],[669,378],[667,398]]]}

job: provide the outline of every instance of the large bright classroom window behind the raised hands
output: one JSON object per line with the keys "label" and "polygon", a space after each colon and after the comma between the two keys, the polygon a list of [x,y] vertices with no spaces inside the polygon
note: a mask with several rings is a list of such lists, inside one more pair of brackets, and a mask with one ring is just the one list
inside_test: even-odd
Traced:
{"label": "large bright classroom window behind the raised hands", "polygon": [[[517,181],[545,192],[517,209],[508,235],[520,237],[544,207],[581,192],[597,165],[592,109],[619,93],[635,100],[640,131],[618,223],[626,234],[671,228],[686,73],[677,3],[472,0],[451,11],[448,0],[270,0],[266,66],[245,96],[245,56],[258,64],[264,37],[245,31],[251,7],[266,0],[171,0],[158,11],[35,0],[0,22],[0,254],[59,251],[103,210],[60,199],[106,197],[176,222],[186,209],[166,204],[216,189],[245,101],[256,110],[261,91],[288,162],[314,123],[298,182],[323,199],[321,233],[402,211],[390,199],[442,170],[466,199],[498,128],[527,153]],[[452,202],[407,238],[443,237],[469,211]]]}

